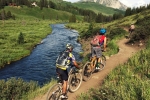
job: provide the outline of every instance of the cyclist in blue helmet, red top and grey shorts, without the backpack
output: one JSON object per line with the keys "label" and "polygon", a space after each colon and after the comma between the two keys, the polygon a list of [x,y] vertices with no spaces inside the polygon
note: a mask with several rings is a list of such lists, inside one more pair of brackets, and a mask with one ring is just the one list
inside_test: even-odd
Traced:
{"label": "cyclist in blue helmet, red top and grey shorts, without the backpack", "polygon": [[101,61],[101,57],[102,57],[102,48],[103,51],[106,51],[106,29],[105,28],[101,28],[98,32],[98,37],[99,37],[99,45],[97,46],[93,46],[91,45],[91,53],[92,53],[92,58],[96,56],[97,58],[97,66],[96,69],[100,69],[100,61]]}

